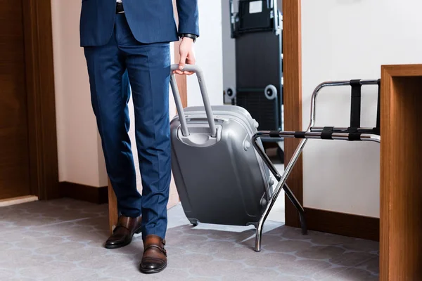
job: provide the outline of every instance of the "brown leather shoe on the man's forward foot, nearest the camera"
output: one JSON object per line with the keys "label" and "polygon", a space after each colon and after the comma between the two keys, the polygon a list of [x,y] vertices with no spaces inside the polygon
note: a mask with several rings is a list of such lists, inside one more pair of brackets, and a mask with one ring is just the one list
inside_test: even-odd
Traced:
{"label": "brown leather shoe on the man's forward foot, nearest the camera", "polygon": [[139,266],[142,273],[159,273],[167,266],[165,240],[157,235],[146,235],[143,241],[143,257]]}

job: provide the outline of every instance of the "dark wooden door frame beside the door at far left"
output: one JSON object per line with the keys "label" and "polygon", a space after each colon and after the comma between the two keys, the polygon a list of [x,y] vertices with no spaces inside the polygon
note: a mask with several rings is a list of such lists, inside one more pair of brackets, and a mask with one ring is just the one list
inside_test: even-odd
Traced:
{"label": "dark wooden door frame beside the door at far left", "polygon": [[50,0],[22,0],[32,195],[60,197]]}

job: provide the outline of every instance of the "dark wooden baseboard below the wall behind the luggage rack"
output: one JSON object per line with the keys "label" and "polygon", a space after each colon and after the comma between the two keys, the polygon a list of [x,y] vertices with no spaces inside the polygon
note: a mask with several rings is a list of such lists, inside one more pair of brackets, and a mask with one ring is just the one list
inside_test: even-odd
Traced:
{"label": "dark wooden baseboard below the wall behind the luggage rack", "polygon": [[305,208],[309,230],[356,237],[366,240],[380,240],[380,219],[335,211]]}

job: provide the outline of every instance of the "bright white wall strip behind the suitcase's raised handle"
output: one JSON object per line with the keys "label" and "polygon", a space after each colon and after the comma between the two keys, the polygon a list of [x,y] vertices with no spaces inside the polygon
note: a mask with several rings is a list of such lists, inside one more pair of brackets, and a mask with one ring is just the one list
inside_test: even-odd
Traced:
{"label": "bright white wall strip behind the suitcase's raised handle", "polygon": [[[196,64],[205,76],[212,105],[223,104],[222,3],[198,1],[200,37],[195,43]],[[187,79],[188,106],[203,105],[198,80],[193,74]]]}

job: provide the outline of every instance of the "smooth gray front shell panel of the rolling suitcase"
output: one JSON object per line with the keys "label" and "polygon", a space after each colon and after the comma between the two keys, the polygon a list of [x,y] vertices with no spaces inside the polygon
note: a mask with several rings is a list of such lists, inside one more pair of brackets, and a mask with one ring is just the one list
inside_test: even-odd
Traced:
{"label": "smooth gray front shell panel of the rolling suitcase", "polygon": [[221,140],[198,148],[179,140],[179,122],[172,121],[172,169],[181,204],[193,221],[256,223],[263,211],[261,198],[266,196],[267,182],[255,150],[244,148],[250,133],[231,119],[221,125]]}

